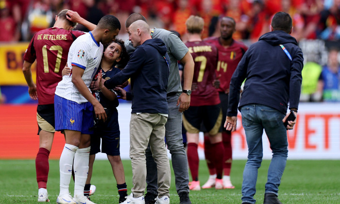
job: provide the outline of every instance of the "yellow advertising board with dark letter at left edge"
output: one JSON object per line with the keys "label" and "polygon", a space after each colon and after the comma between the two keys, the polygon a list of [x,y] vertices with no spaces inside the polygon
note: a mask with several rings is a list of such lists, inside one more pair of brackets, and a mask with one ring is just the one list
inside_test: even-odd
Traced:
{"label": "yellow advertising board with dark letter at left edge", "polygon": [[[22,73],[24,54],[28,42],[0,44],[0,85],[27,85]],[[35,83],[36,63],[32,66]]]}

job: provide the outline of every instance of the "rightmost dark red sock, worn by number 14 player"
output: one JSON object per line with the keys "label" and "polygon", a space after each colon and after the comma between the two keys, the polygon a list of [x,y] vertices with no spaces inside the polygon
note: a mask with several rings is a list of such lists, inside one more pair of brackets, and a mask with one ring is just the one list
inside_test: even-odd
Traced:
{"label": "rightmost dark red sock, worn by number 14 player", "polygon": [[223,156],[223,170],[224,175],[229,176],[231,170],[231,163],[233,162],[233,150],[231,148],[231,133],[222,132],[224,156]]}

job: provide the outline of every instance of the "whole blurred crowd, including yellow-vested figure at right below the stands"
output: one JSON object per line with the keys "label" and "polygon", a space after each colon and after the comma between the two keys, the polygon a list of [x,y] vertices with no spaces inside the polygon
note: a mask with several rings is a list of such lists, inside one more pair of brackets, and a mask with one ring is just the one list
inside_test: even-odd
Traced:
{"label": "whole blurred crowd, including yellow-vested figure at right below the stands", "polygon": [[[340,101],[340,0],[0,0],[0,42],[29,41],[35,32],[51,27],[62,9],[76,11],[94,24],[104,15],[114,15],[121,22],[122,39],[128,38],[124,22],[131,13],[141,13],[152,27],[177,31],[183,41],[190,15],[204,18],[203,38],[218,36],[219,17],[229,16],[237,22],[233,37],[247,45],[269,32],[272,16],[284,11],[293,18],[292,35],[299,42],[334,42],[326,46],[323,59],[320,50],[317,56],[305,50],[311,57],[305,56],[301,100]],[[81,26],[76,30],[87,31]]]}

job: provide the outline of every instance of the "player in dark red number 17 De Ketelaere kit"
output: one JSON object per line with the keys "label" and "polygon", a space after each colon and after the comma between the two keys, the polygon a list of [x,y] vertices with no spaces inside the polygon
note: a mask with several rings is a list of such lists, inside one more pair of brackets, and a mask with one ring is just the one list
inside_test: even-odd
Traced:
{"label": "player in dark red number 17 De Ketelaere kit", "polygon": [[[72,22],[72,21],[73,22]],[[47,178],[49,174],[49,154],[54,137],[54,92],[62,80],[61,68],[67,63],[68,49],[80,35],[72,31],[77,22],[93,30],[96,25],[81,18],[77,12],[62,10],[52,28],[34,34],[24,55],[23,74],[30,97],[38,100],[36,119],[38,122],[39,151],[35,158],[36,180],[38,182],[38,202],[49,201]],[[31,67],[36,59],[36,85],[32,79]]]}

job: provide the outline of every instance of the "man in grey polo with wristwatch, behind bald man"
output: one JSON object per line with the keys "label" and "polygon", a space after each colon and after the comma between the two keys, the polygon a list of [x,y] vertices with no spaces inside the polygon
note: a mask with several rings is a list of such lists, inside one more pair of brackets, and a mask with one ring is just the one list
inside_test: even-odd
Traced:
{"label": "man in grey polo with wristwatch, behind bald man", "polygon": [[[125,27],[129,26],[136,20],[144,20],[145,17],[140,14],[131,14],[125,21]],[[128,32],[128,31],[126,31]],[[150,29],[150,35],[153,39],[162,39],[168,48],[170,57],[170,73],[167,88],[167,101],[169,109],[168,121],[165,124],[165,138],[167,147],[171,154],[173,172],[175,174],[176,190],[179,195],[180,204],[191,204],[189,199],[189,174],[187,169],[187,154],[183,146],[182,137],[182,112],[187,110],[190,105],[191,83],[194,70],[194,62],[187,46],[181,39],[170,31],[153,28]],[[129,54],[135,51],[132,43],[125,41],[126,50]],[[184,83],[183,89],[179,77],[177,60],[184,65]],[[154,204],[157,197],[157,166],[153,160],[150,148],[145,152],[147,163],[147,193],[145,195],[146,204]]]}

